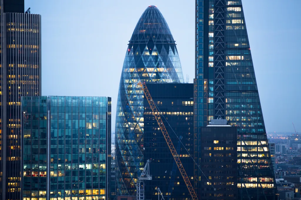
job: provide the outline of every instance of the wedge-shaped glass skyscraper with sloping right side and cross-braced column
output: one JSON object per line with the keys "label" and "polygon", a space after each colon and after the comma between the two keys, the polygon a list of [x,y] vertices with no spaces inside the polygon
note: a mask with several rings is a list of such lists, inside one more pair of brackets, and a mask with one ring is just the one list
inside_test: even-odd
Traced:
{"label": "wedge-shaped glass skyscraper with sloping right side and cross-braced column", "polygon": [[196,0],[195,32],[194,138],[210,120],[227,119],[238,131],[238,199],[272,199],[275,176],[241,0]]}

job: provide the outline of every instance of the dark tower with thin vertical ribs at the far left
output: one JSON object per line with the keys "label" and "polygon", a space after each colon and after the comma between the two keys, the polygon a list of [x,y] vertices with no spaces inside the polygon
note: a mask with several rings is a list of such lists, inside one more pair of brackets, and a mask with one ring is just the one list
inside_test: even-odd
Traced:
{"label": "dark tower with thin vertical ribs at the far left", "polygon": [[[0,199],[21,199],[21,97],[41,93],[41,16],[0,0]],[[6,7],[7,6],[7,7]],[[7,9],[6,9],[7,8]],[[18,11],[18,13],[12,13]]]}

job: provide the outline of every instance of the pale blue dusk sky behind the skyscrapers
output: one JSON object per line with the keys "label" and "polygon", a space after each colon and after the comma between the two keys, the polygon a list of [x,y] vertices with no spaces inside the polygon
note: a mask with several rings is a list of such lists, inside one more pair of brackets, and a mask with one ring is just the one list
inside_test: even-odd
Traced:
{"label": "pale blue dusk sky behind the skyscrapers", "polygon": [[[294,132],[294,122],[301,132],[301,1],[283,2],[242,0],[266,130]],[[42,95],[112,97],[114,133],[127,44],[149,5],[166,19],[192,83],[194,0],[25,0],[42,15]]]}

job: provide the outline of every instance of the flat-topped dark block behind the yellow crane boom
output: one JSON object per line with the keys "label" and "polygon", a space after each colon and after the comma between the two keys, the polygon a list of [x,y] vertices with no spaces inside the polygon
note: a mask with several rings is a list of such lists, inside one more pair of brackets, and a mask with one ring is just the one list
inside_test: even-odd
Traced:
{"label": "flat-topped dark block behind the yellow crane boom", "polygon": [[[147,84],[147,88],[158,107],[166,130],[178,151],[188,177],[193,178],[194,164],[191,158],[194,149],[192,132],[193,84]],[[151,160],[150,174],[153,177],[151,181],[145,181],[145,199],[157,199],[157,187],[160,188],[164,196],[169,196],[173,200],[191,199],[145,96],[143,106],[144,163]],[[182,138],[182,144],[178,138]],[[190,179],[190,181],[193,182],[194,180]]]}

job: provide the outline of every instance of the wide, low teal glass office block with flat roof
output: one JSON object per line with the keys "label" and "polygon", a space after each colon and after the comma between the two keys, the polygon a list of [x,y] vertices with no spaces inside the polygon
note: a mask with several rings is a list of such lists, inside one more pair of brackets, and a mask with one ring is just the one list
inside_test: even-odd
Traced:
{"label": "wide, low teal glass office block with flat roof", "polygon": [[110,199],[111,98],[22,97],[22,199]]}

